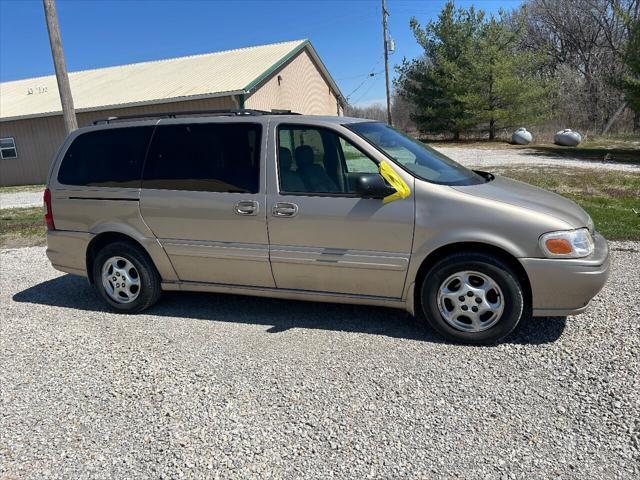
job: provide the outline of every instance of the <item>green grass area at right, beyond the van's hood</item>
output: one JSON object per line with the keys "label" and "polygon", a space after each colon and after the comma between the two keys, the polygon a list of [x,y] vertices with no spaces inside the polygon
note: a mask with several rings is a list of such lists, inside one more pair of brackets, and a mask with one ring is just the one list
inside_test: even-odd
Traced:
{"label": "green grass area at right, beyond the van's hood", "polygon": [[609,240],[640,240],[640,175],[581,168],[494,168],[492,172],[542,187],[584,208]]}

